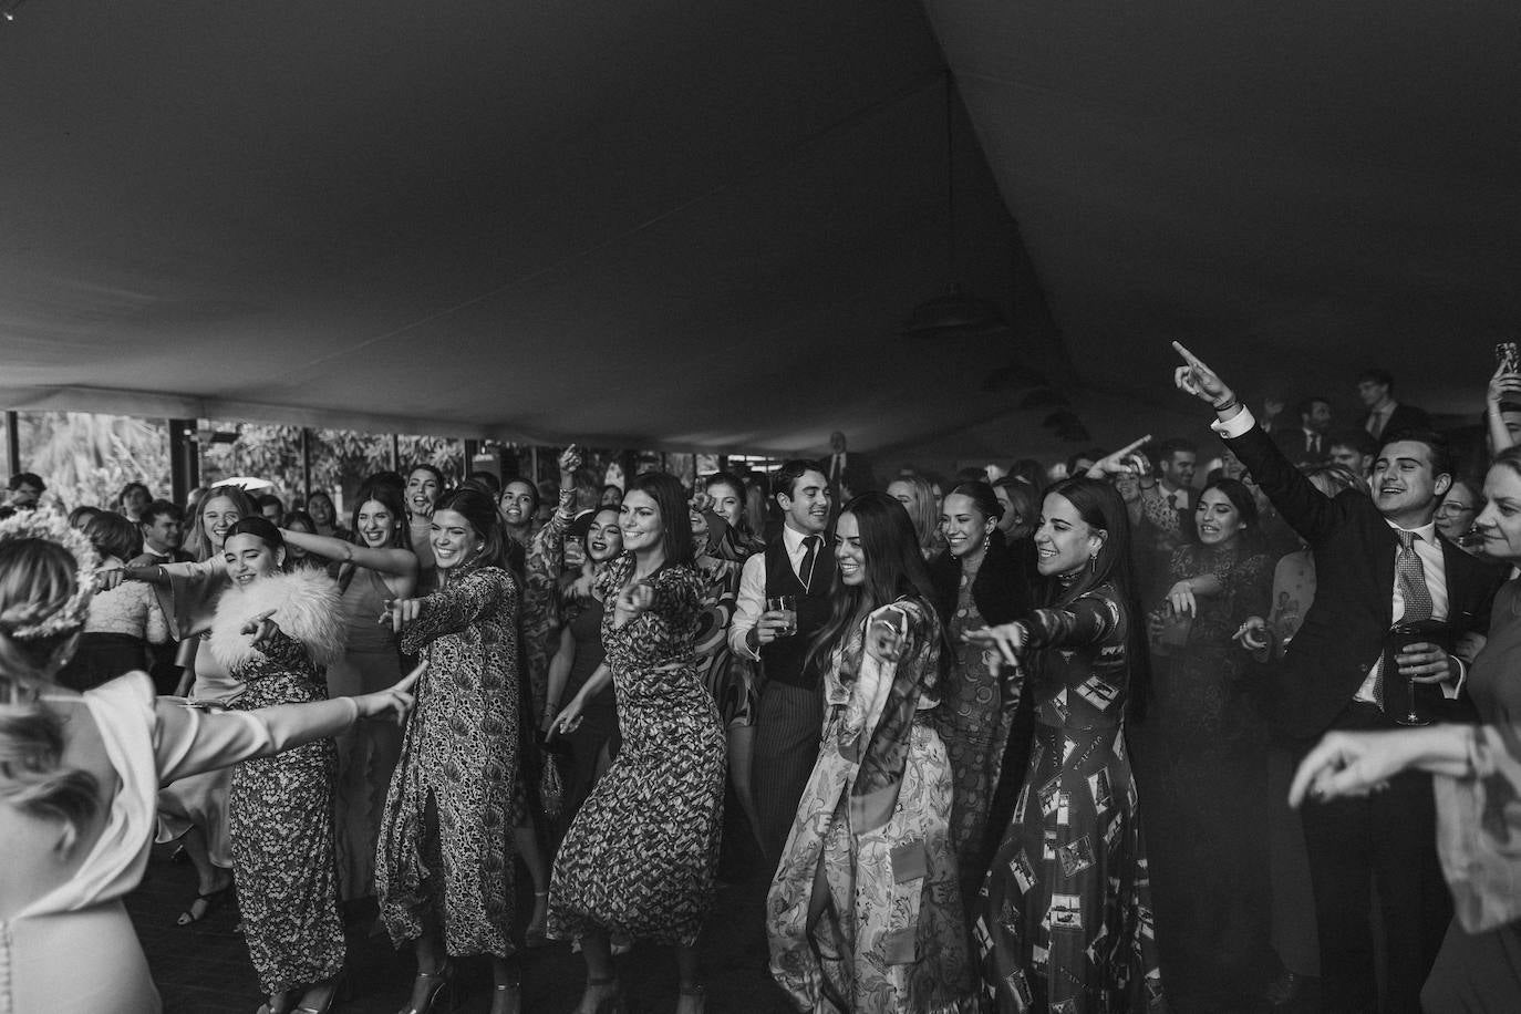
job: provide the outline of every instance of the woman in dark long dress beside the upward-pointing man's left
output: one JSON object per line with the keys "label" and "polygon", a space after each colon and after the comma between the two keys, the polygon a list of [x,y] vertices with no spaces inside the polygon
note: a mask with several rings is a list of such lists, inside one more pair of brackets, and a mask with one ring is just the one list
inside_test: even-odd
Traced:
{"label": "woman in dark long dress beside the upward-pointing man's left", "polygon": [[1156,693],[1133,740],[1147,821],[1167,829],[1148,857],[1171,1003],[1218,1011],[1250,1006],[1270,964],[1267,722],[1234,637],[1267,613],[1273,561],[1235,479],[1205,486],[1196,517],[1164,604],[1192,622],[1183,645],[1153,652]]}

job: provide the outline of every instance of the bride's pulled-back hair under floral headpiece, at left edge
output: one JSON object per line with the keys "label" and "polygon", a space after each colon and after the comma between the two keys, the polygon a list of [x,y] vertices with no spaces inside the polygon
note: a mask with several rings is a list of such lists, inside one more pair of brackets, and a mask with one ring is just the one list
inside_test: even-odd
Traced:
{"label": "bride's pulled-back hair under floral headpiece, at left edge", "polygon": [[[78,591],[78,561],[47,538],[0,541],[0,803],[64,825],[67,851],[99,809],[99,784],[64,766],[64,724],[33,695],[52,683],[79,635],[50,629]],[[29,632],[38,626],[47,632]]]}

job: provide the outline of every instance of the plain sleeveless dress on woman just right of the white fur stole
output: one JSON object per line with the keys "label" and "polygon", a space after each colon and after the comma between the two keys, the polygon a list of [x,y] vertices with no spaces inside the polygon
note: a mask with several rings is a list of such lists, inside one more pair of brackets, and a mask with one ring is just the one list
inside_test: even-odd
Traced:
{"label": "plain sleeveless dress on woman just right of the white fur stole", "polygon": [[[402,657],[389,625],[376,619],[392,597],[385,579],[368,567],[350,570],[342,585],[348,649],[327,670],[330,696],[385,690],[402,678]],[[374,894],[376,842],[391,774],[402,756],[402,731],[394,722],[359,722],[338,736],[338,783],[333,812],[338,824],[338,883],[344,898]]]}

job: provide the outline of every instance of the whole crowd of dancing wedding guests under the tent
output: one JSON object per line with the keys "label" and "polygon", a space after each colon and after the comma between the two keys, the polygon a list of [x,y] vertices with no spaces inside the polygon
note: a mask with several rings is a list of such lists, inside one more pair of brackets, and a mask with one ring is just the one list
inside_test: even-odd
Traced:
{"label": "whole crowd of dancing wedding guests under the tent", "polygon": [[1208,455],[878,491],[838,433],[691,488],[572,447],[548,491],[418,465],[348,518],[132,483],[65,520],[15,476],[0,1000],[157,1009],[120,911],[157,839],[181,924],[236,894],[271,1014],[333,1008],[345,920],[415,955],[403,1014],[470,958],[520,1011],[554,941],[578,1014],[639,941],[695,1014],[747,865],[800,1011],[1521,1009],[1521,374],[1465,476],[1387,372],[1355,429],[1273,429],[1177,351]]}

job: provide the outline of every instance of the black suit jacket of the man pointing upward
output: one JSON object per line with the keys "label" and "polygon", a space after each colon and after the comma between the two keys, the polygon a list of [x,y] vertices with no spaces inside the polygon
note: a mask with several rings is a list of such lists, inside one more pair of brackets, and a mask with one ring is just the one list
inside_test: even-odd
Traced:
{"label": "black suit jacket of the man pointing upward", "polygon": [[[1311,739],[1337,721],[1378,661],[1393,623],[1399,540],[1370,499],[1351,490],[1326,499],[1262,430],[1226,442],[1316,558],[1316,600],[1284,658],[1275,715],[1282,734]],[[1454,634],[1484,634],[1504,569],[1440,541],[1448,623]]]}

